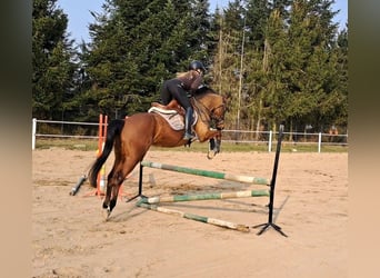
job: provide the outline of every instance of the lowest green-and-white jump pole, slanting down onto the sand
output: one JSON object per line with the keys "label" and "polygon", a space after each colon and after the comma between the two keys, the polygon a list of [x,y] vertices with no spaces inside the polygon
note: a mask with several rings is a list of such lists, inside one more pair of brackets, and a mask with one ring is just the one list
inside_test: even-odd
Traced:
{"label": "lowest green-and-white jump pole, slanting down onto the sand", "polygon": [[216,219],[216,218],[211,218],[211,217],[187,214],[187,212],[176,210],[176,209],[168,209],[164,207],[159,207],[157,205],[150,205],[150,203],[144,203],[144,202],[138,201],[137,206],[142,207],[142,208],[147,208],[147,209],[151,209],[151,210],[156,210],[159,212],[168,214],[168,215],[180,216],[182,218],[187,218],[187,219],[191,219],[191,220],[196,220],[196,221],[200,221],[200,222],[204,222],[204,224],[211,224],[211,225],[216,225],[219,227],[238,230],[238,231],[248,232],[250,230],[247,225],[233,224],[230,221],[224,221],[224,220],[220,220],[220,219]]}

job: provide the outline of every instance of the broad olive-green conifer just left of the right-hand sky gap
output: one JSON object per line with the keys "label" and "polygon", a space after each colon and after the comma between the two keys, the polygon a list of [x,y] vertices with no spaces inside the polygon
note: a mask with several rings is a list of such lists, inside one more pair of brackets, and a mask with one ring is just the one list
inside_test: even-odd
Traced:
{"label": "broad olive-green conifer just left of the right-hand sky gap", "polygon": [[287,97],[282,107],[286,119],[298,128],[311,125],[322,130],[327,123],[323,115],[334,109],[328,106],[337,90],[337,60],[331,51],[337,24],[332,23],[330,2],[296,0],[290,10],[287,38],[291,51],[283,57]]}

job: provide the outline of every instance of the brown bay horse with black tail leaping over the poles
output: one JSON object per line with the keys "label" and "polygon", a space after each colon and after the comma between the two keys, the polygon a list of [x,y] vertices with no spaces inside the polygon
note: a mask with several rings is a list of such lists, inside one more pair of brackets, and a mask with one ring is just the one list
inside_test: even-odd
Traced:
{"label": "brown bay horse with black tail leaping over the poles", "polygon": [[[226,98],[211,88],[202,87],[190,97],[190,101],[198,115],[193,130],[199,142],[210,141],[208,158],[211,159],[220,151],[227,108]],[[168,106],[176,107],[177,103],[170,102]],[[183,129],[172,129],[163,117],[153,112],[138,112],[126,119],[114,119],[109,122],[103,151],[96,159],[88,175],[90,185],[97,187],[98,173],[112,149],[114,150],[114,162],[107,177],[106,198],[102,203],[106,219],[117,203],[119,188],[123,180],[142,161],[149,148],[190,145],[182,138]]]}

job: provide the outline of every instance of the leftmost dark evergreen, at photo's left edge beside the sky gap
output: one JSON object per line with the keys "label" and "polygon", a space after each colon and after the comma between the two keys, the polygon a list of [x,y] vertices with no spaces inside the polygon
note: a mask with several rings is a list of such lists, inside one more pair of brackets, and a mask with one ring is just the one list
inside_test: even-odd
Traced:
{"label": "leftmost dark evergreen, at photo's left edge beside the sky gap", "polygon": [[61,119],[73,89],[76,51],[66,33],[68,18],[57,0],[34,0],[32,12],[32,116]]}

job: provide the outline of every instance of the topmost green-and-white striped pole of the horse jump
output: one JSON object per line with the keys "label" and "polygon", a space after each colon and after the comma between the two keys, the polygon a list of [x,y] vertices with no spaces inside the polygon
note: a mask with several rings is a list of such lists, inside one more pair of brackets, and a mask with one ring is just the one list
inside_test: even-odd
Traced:
{"label": "topmost green-and-white striped pole of the horse jump", "polygon": [[187,168],[187,167],[164,165],[164,163],[151,162],[151,161],[141,161],[141,166],[157,168],[161,170],[190,173],[190,175],[202,176],[202,177],[214,178],[214,179],[226,179],[226,180],[231,180],[231,181],[254,183],[254,185],[266,185],[266,186],[270,185],[270,179],[267,179],[267,178],[258,178],[258,177],[232,175],[232,173],[226,173],[226,172],[208,171],[208,170],[201,170],[201,169],[192,169],[192,168]]}

